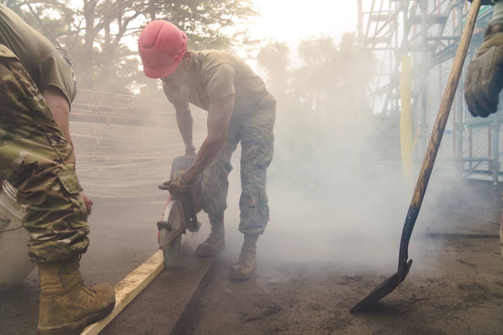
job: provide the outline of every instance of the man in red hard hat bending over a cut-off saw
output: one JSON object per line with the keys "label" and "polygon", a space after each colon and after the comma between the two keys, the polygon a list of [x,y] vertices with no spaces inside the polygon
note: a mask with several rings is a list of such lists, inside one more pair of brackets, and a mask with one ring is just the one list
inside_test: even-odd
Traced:
{"label": "man in red hard hat bending over a cut-off saw", "polygon": [[[257,240],[269,221],[266,172],[273,157],[276,100],[242,60],[216,50],[187,50],[186,34],[169,22],[150,22],[140,35],[138,51],[145,75],[162,80],[164,94],[175,106],[186,154],[196,156],[184,174],[164,184],[172,195],[185,195],[204,171],[200,202],[211,234],[197,247],[199,256],[225,249],[230,161],[241,143],[239,231],[244,242],[230,277],[251,278],[257,269]],[[208,111],[208,135],[197,155],[189,103]]]}

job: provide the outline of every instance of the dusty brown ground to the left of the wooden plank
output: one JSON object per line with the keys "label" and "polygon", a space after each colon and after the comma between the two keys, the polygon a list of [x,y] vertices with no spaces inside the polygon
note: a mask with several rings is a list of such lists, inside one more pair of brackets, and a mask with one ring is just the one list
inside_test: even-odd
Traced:
{"label": "dusty brown ground to the left of the wooden plank", "polygon": [[[80,272],[88,285],[99,282],[117,284],[154,254],[158,246],[155,222],[164,203],[110,204],[94,199],[90,248],[82,255]],[[0,334],[37,333],[38,273],[34,270],[19,286],[0,291]]]}

